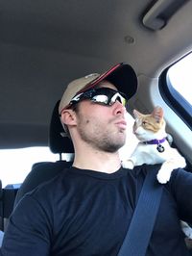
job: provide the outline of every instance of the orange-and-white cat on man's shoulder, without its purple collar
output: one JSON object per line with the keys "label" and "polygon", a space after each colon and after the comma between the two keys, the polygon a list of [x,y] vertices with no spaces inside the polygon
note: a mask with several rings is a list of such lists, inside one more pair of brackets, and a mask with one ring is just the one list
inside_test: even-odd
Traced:
{"label": "orange-and-white cat on man's shoulder, without its purple collar", "polygon": [[[186,163],[178,150],[171,147],[167,140],[159,143],[164,148],[163,152],[159,152],[156,149],[157,141],[167,137],[162,108],[156,107],[150,115],[143,115],[134,110],[133,115],[135,118],[133,134],[139,142],[131,158],[123,161],[122,166],[133,168],[133,166],[141,166],[143,164],[162,164],[157,173],[157,180],[162,184],[168,182],[173,169],[184,167]],[[154,140],[156,140],[155,144],[148,143]]]}

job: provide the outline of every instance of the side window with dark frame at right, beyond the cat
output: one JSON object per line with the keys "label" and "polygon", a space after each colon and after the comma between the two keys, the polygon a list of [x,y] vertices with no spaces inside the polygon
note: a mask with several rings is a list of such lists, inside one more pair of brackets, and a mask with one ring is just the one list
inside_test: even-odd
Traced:
{"label": "side window with dark frame at right, beyond the cat", "polygon": [[166,103],[192,128],[192,53],[168,67],[161,76],[159,90]]}

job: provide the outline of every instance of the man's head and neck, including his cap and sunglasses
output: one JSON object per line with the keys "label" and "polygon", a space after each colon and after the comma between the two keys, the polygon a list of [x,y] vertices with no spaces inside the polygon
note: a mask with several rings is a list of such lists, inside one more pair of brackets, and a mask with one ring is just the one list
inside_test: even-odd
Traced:
{"label": "man's head and neck, including his cap and sunglasses", "polygon": [[[121,94],[117,93],[115,84]],[[73,166],[107,173],[121,166],[118,149],[126,140],[126,98],[130,98],[136,88],[136,75],[128,64],[117,64],[102,76],[91,74],[69,84],[59,112],[74,144]],[[78,108],[75,112],[73,106]]]}

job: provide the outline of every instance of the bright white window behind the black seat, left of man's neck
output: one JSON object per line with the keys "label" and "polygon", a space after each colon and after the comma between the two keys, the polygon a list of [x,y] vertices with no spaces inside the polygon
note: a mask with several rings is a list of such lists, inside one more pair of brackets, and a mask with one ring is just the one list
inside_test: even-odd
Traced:
{"label": "bright white window behind the black seat, left of man's neck", "polygon": [[0,159],[0,179],[4,188],[8,184],[22,183],[35,163],[55,162],[59,155],[53,154],[49,147],[29,147],[0,150]]}

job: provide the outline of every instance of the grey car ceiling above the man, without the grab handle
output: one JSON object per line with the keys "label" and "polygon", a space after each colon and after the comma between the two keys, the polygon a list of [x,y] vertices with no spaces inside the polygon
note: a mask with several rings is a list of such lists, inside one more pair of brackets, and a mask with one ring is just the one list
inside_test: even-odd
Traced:
{"label": "grey car ceiling above the man, without the grab handle", "polygon": [[157,78],[191,51],[192,1],[182,2],[154,31],[142,20],[156,1],[0,0],[0,148],[47,145],[71,80],[121,62]]}

